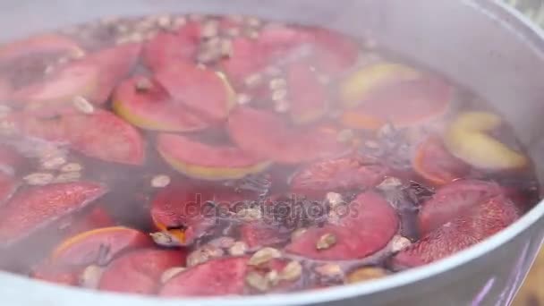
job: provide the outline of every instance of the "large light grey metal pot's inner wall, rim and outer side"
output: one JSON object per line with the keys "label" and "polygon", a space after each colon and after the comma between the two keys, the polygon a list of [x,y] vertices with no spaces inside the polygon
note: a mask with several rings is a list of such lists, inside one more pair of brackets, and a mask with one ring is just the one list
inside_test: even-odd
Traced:
{"label": "large light grey metal pot's inner wall, rim and outer side", "polygon": [[[0,39],[106,15],[251,13],[317,24],[378,43],[473,89],[513,124],[544,178],[544,33],[490,0],[48,0],[0,2]],[[361,285],[183,301],[97,293],[0,273],[6,306],[506,305],[544,237],[544,203],[497,234],[437,263]]]}

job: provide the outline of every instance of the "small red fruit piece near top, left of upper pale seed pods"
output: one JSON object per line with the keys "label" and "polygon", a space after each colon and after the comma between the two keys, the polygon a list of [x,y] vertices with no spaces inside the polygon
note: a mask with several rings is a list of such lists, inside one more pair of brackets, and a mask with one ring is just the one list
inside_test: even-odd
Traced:
{"label": "small red fruit piece near top, left of upper pale seed pods", "polygon": [[143,49],[144,63],[152,71],[170,64],[194,61],[200,40],[200,23],[190,21],[177,33],[160,32]]}

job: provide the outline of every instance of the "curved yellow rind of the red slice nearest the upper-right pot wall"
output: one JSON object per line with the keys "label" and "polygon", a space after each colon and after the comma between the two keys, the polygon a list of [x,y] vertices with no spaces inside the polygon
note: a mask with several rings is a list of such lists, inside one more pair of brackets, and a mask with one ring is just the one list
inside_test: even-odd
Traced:
{"label": "curved yellow rind of the red slice nearest the upper-right pot wall", "polygon": [[340,82],[340,98],[345,107],[358,106],[373,89],[391,81],[410,81],[421,77],[421,73],[401,64],[372,64],[351,73]]}

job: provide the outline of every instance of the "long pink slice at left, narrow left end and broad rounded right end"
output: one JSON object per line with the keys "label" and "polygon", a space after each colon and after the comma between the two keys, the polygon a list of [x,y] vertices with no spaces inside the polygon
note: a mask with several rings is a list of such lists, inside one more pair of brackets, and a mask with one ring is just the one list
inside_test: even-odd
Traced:
{"label": "long pink slice at left, narrow left end and broad rounded right end", "polygon": [[92,115],[67,114],[55,119],[17,115],[11,120],[27,136],[67,142],[88,157],[125,165],[141,165],[145,161],[140,132],[110,112],[95,109]]}

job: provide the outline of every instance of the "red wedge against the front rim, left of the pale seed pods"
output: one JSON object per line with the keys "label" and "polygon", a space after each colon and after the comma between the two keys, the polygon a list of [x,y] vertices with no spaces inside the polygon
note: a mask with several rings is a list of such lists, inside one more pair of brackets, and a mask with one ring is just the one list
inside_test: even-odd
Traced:
{"label": "red wedge against the front rim, left of the pale seed pods", "polygon": [[159,291],[160,296],[240,295],[245,286],[247,258],[214,259],[174,276]]}

